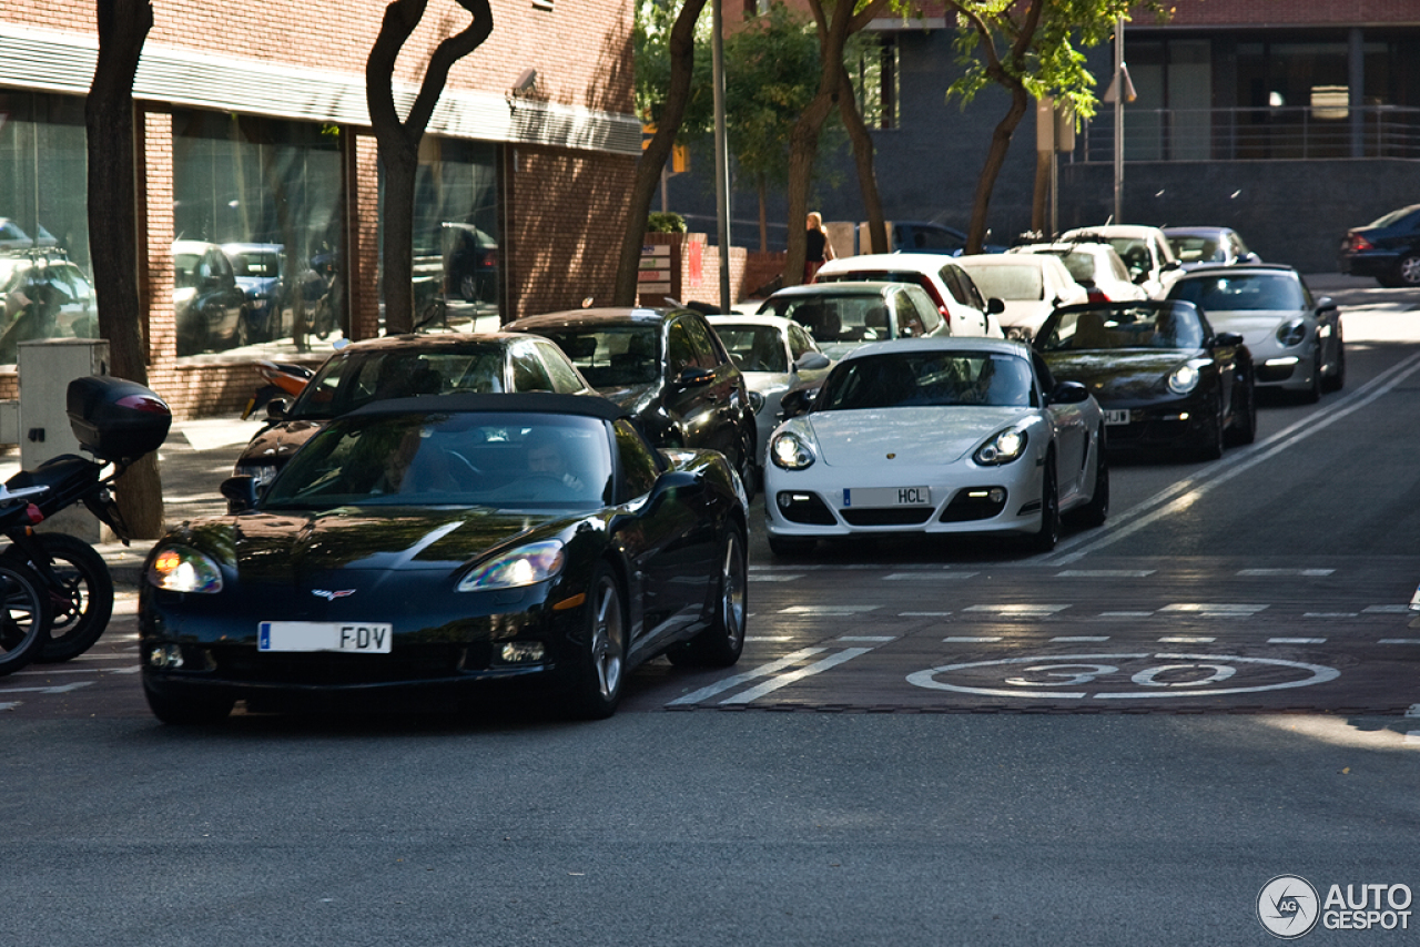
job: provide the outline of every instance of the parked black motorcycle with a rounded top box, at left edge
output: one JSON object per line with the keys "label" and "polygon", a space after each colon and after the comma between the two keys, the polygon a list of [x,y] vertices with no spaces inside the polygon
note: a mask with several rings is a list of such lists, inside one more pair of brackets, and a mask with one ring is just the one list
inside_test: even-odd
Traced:
{"label": "parked black motorcycle with a rounded top box, at left edge", "polygon": [[51,613],[34,656],[40,662],[70,660],[94,646],[114,615],[114,578],[89,544],[60,532],[36,532],[34,527],[82,503],[128,545],[131,534],[111,487],[135,461],[158,450],[172,427],[172,410],[158,395],[109,376],[70,382],[68,415],[80,446],[95,460],[61,454],[21,470],[6,488],[41,491],[23,518],[0,514],[0,532],[11,542],[0,552],[0,565],[31,569],[48,593]]}

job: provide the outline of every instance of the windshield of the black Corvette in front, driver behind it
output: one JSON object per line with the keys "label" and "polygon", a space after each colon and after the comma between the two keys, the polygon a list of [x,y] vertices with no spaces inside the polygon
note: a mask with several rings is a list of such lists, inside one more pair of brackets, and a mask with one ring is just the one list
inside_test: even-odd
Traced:
{"label": "windshield of the black Corvette in front, driver behind it", "polygon": [[598,419],[400,413],[329,425],[271,483],[261,508],[413,504],[592,510],[612,496],[611,440]]}

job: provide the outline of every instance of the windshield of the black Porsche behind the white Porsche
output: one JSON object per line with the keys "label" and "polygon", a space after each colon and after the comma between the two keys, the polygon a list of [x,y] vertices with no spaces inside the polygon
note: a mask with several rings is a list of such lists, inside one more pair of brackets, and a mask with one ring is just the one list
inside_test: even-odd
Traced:
{"label": "windshield of the black Porsche behind the white Porsche", "polygon": [[1198,311],[1187,302],[1066,307],[1041,327],[1042,352],[1106,349],[1197,349],[1203,346]]}

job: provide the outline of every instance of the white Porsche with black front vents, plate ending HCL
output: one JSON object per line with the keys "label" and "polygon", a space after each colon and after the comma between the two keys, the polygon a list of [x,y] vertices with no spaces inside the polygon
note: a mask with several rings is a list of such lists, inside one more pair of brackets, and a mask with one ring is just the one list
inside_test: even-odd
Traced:
{"label": "white Porsche with black front vents, plate ending HCL", "polygon": [[775,555],[883,532],[1008,532],[1055,547],[1062,513],[1109,511],[1105,420],[1076,382],[1004,339],[897,339],[855,349],[809,410],[770,439],[764,507]]}

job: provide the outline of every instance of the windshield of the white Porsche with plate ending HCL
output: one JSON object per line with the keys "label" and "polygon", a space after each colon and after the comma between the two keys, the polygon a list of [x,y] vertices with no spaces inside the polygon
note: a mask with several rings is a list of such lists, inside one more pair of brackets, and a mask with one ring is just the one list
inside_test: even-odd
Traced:
{"label": "windshield of the white Porsche with plate ending HCL", "polygon": [[1031,365],[997,352],[883,354],[842,362],[814,410],[1035,405]]}

